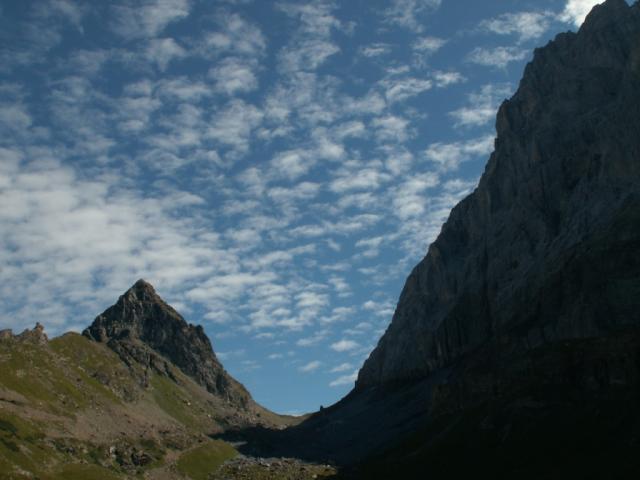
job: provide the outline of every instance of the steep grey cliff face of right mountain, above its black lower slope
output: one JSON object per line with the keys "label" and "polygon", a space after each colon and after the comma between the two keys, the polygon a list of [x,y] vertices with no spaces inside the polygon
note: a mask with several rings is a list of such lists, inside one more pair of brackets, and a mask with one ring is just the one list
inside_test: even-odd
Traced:
{"label": "steep grey cliff face of right mountain, above its black lower slope", "polygon": [[608,0],[537,49],[496,128],[356,391],[640,327],[640,3]]}

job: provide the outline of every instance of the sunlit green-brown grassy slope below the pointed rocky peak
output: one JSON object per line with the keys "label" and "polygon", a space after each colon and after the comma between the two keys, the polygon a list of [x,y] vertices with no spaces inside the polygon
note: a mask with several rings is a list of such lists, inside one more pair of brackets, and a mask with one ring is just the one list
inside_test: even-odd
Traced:
{"label": "sunlit green-brown grassy slope below the pointed rocky peak", "polygon": [[[153,374],[142,389],[111,350],[80,335],[0,341],[0,477],[129,478],[179,457],[185,478],[204,478],[235,455],[201,443],[233,412],[173,373],[177,383]],[[149,458],[135,465],[132,452]]]}

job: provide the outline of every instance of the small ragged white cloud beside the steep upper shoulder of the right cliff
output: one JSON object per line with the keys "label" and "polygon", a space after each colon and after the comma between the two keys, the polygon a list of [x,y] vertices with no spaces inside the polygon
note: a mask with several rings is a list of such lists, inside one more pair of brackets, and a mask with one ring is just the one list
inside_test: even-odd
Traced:
{"label": "small ragged white cloud beside the steep upper shoulder of the right cliff", "polygon": [[455,119],[456,127],[486,125],[495,119],[498,106],[511,93],[509,84],[483,85],[479,91],[467,95],[467,106],[449,112],[449,115]]}

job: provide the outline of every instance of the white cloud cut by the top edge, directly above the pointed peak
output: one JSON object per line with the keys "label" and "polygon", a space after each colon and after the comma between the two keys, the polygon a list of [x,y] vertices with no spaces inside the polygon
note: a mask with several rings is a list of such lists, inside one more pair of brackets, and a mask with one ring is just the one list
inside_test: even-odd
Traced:
{"label": "white cloud cut by the top edge, directly above the pointed peak", "polygon": [[111,7],[111,30],[126,39],[155,37],[170,23],[189,16],[189,0],[152,0]]}

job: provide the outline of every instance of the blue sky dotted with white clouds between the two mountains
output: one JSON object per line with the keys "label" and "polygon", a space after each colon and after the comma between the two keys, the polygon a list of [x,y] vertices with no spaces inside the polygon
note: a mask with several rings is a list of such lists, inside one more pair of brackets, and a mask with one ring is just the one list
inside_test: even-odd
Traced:
{"label": "blue sky dotted with white clouds between the two mountains", "polygon": [[590,0],[0,0],[0,328],[138,278],[264,406],[352,387]]}

